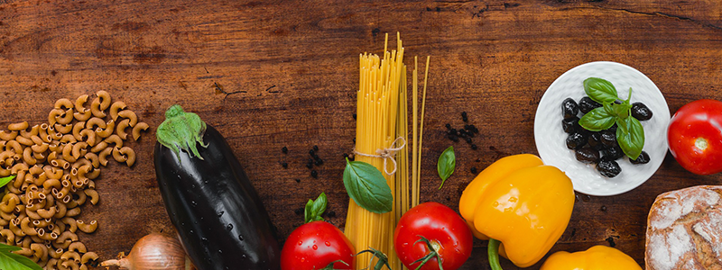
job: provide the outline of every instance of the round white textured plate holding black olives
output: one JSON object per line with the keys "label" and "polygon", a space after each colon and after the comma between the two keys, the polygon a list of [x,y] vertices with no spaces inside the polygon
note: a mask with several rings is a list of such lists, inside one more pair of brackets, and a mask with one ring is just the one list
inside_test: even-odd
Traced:
{"label": "round white textured plate holding black olives", "polygon": [[[566,146],[568,134],[561,128],[563,120],[561,102],[567,97],[579,103],[584,97],[583,81],[590,77],[608,80],[616,87],[622,99],[626,99],[632,87],[632,103],[642,102],[653,112],[652,119],[642,121],[644,127],[644,148],[651,161],[645,165],[634,165],[622,157],[616,162],[622,173],[607,178],[600,175],[594,165],[577,161],[574,151]],[[591,62],[569,69],[557,78],[542,96],[534,117],[534,140],[544,164],[557,166],[566,173],[574,184],[574,190],[596,196],[609,196],[628,192],[649,179],[667,154],[667,125],[670,122],[670,108],[659,88],[642,72],[615,62]]]}

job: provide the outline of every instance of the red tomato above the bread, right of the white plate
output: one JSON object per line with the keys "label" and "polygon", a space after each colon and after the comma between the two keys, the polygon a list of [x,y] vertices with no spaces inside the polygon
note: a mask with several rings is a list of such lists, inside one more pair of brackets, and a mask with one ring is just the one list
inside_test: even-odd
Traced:
{"label": "red tomato above the bread, right of the white plate", "polygon": [[722,172],[722,102],[701,99],[671,117],[667,130],[671,155],[698,175]]}

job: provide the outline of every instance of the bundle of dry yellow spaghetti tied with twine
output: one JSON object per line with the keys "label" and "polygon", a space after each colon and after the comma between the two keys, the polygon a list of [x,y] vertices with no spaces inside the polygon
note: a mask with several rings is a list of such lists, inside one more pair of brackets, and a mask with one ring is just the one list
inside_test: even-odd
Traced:
{"label": "bundle of dry yellow spaghetti tied with twine", "polygon": [[[368,53],[361,54],[359,58],[360,81],[356,103],[355,150],[358,153],[356,161],[366,162],[384,172],[386,183],[393,194],[393,210],[381,214],[374,213],[358,206],[354,200],[349,200],[345,234],[356,250],[364,250],[368,247],[378,249],[389,258],[389,265],[392,269],[402,269],[401,261],[393,251],[393,230],[396,221],[405,211],[409,210],[412,197],[418,203],[418,179],[414,176],[417,181],[412,183],[412,186],[416,188],[410,194],[409,153],[408,149],[403,147],[408,141],[404,49],[398,35],[396,49],[388,51],[387,45],[388,35],[386,35],[384,43],[383,58]],[[416,90],[415,69],[413,74],[413,85]],[[414,100],[414,107],[416,107],[415,105]],[[414,147],[416,146],[414,143]],[[393,157],[375,156],[379,150],[398,148],[402,149],[395,156],[392,155]],[[416,155],[421,156],[420,153],[414,151],[412,157],[414,160]],[[385,158],[394,158],[394,162],[384,162]],[[415,170],[414,173],[416,173]],[[372,259],[371,256],[362,254],[357,257],[354,268],[366,268]]]}

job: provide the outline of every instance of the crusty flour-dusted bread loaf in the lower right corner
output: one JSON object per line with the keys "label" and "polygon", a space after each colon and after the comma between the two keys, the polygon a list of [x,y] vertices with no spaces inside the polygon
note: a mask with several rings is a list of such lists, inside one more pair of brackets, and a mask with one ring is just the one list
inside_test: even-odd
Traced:
{"label": "crusty flour-dusted bread loaf in the lower right corner", "polygon": [[647,218],[647,270],[722,269],[722,186],[662,193]]}

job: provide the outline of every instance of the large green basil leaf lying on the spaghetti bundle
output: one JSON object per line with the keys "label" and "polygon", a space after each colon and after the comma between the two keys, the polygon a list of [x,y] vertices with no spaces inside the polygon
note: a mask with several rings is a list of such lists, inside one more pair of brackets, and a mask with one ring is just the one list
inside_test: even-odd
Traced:
{"label": "large green basil leaf lying on the spaghetti bundle", "polygon": [[348,196],[368,211],[384,213],[393,208],[391,188],[375,166],[347,158],[344,185]]}

